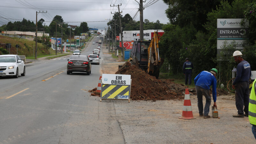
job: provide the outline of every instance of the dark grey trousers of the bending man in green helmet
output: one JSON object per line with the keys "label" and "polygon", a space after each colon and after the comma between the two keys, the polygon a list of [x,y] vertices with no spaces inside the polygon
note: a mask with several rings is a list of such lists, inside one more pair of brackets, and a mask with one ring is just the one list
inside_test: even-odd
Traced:
{"label": "dark grey trousers of the bending man in green helmet", "polygon": [[[203,115],[203,111],[204,111],[204,116],[208,116],[211,102],[212,102],[210,93],[211,93],[210,90],[206,90],[200,86],[196,86],[197,107],[198,107],[199,115]],[[203,105],[203,95],[206,99],[205,106]]]}

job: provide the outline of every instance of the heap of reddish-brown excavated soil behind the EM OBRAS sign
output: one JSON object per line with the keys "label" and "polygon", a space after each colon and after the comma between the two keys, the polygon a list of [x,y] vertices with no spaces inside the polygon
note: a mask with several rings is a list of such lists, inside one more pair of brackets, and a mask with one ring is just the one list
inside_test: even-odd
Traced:
{"label": "heap of reddish-brown excavated soil behind the EM OBRAS sign", "polygon": [[[173,80],[159,80],[155,76],[146,74],[142,69],[137,68],[129,62],[126,62],[121,69],[115,74],[131,75],[132,87],[130,98],[132,100],[171,100],[171,99],[184,99],[185,89],[188,86],[183,84],[176,84]],[[100,96],[96,92],[97,88],[89,90],[91,95]],[[196,95],[196,90],[189,89],[190,94]],[[221,89],[217,90],[217,96],[227,95],[226,91]]]}

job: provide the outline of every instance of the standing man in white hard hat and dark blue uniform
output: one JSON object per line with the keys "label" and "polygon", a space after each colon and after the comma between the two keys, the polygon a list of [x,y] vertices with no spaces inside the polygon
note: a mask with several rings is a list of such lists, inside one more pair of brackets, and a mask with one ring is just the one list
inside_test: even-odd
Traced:
{"label": "standing man in white hard hat and dark blue uniform", "polygon": [[242,52],[235,51],[233,56],[238,63],[236,68],[236,79],[232,84],[232,88],[236,89],[236,108],[237,114],[233,117],[248,117],[249,107],[249,80],[251,78],[251,66],[242,58]]}

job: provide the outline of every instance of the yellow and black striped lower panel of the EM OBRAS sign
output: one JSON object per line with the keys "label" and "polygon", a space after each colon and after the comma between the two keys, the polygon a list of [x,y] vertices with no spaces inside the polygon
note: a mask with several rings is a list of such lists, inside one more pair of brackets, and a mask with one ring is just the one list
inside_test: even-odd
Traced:
{"label": "yellow and black striped lower panel of the EM OBRAS sign", "polygon": [[101,99],[130,99],[130,85],[101,84]]}

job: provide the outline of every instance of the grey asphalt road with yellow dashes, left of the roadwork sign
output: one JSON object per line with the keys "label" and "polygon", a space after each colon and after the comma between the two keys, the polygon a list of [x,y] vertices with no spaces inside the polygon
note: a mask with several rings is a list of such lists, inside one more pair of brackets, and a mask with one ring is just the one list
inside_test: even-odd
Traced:
{"label": "grey asphalt road with yellow dashes, left of the roadwork sign", "polygon": [[[98,39],[82,55],[92,54]],[[90,76],[67,75],[69,57],[26,64],[26,76],[0,77],[0,143],[124,143],[113,102],[100,102],[88,92],[111,55],[101,52]]]}

